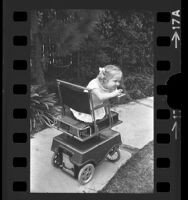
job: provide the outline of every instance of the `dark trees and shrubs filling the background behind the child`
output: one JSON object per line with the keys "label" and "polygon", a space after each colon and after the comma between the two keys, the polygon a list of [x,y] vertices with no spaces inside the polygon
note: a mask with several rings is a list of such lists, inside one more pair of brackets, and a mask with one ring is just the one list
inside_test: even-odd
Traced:
{"label": "dark trees and shrubs filling the background behind the child", "polygon": [[[57,78],[85,86],[96,77],[99,67],[107,64],[121,67],[122,85],[129,101],[153,96],[152,12],[33,10],[30,33],[32,127],[36,116],[40,116],[40,123],[51,123],[46,113],[55,104],[55,94],[51,92],[57,96]],[[40,87],[34,85],[48,89],[41,89],[40,93]],[[46,103],[47,99],[51,104]]]}

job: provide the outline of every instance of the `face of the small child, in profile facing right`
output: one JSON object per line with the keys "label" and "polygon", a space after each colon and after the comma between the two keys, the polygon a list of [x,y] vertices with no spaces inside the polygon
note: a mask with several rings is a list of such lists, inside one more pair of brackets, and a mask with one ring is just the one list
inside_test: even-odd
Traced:
{"label": "face of the small child, in profile facing right", "polygon": [[109,90],[115,90],[117,89],[118,86],[120,86],[121,83],[121,78],[122,78],[122,73],[116,73],[112,76],[111,79],[109,79],[106,84],[104,85],[106,89]]}

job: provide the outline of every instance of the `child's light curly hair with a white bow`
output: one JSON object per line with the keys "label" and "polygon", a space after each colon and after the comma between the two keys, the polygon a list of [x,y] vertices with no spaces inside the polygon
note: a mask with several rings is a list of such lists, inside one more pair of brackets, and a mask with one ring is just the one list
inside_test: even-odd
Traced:
{"label": "child's light curly hair with a white bow", "polygon": [[117,73],[122,73],[121,69],[118,66],[106,65],[103,68],[99,68],[99,74],[97,78],[99,79],[100,83],[104,85],[107,81],[113,78],[114,75]]}

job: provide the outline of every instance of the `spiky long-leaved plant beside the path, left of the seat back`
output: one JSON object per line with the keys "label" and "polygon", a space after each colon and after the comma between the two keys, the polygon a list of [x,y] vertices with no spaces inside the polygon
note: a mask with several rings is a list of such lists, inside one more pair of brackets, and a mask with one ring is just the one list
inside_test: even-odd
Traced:
{"label": "spiky long-leaved plant beside the path, left of the seat back", "polygon": [[57,105],[55,93],[49,93],[45,86],[31,85],[30,94],[30,132],[39,131],[46,126],[52,127],[56,117],[62,113]]}

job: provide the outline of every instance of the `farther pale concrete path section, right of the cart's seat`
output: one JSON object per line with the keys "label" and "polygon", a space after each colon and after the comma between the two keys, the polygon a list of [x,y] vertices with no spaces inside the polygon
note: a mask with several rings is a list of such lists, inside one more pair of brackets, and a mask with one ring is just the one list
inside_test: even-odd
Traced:
{"label": "farther pale concrete path section, right of the cart's seat", "polygon": [[153,97],[114,108],[122,124],[114,127],[121,133],[123,144],[141,149],[153,140]]}

